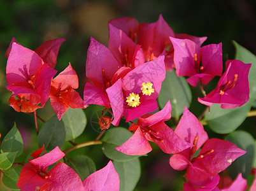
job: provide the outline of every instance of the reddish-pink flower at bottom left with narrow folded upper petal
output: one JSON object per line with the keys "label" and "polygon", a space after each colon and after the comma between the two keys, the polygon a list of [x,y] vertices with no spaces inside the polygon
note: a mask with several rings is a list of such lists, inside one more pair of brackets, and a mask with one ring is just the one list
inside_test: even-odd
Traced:
{"label": "reddish-pink flower at bottom left with narrow folded upper petal", "polygon": [[68,165],[59,162],[47,172],[48,166],[64,157],[57,146],[51,152],[39,157],[43,148],[32,153],[34,159],[22,167],[17,187],[20,190],[83,190],[83,183],[78,174]]}

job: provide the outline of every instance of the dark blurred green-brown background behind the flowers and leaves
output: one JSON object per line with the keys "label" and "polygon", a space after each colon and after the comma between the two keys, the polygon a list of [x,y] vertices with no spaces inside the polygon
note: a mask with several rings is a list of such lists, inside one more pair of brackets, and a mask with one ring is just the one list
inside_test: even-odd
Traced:
{"label": "dark blurred green-brown background behind the flowers and leaves", "polygon": [[[78,92],[83,97],[85,60],[90,36],[107,46],[108,20],[111,18],[129,16],[136,18],[140,23],[150,23],[156,22],[159,14],[163,15],[175,33],[208,36],[204,45],[222,42],[224,59],[234,58],[232,39],[256,53],[256,1],[253,0],[0,0],[2,137],[16,122],[27,145],[24,148],[26,154],[38,148],[33,115],[17,113],[8,106],[10,92],[5,88],[7,84],[4,53],[13,36],[18,43],[32,50],[48,39],[65,38],[66,41],[60,46],[55,69],[60,73],[68,66],[68,62],[71,62],[80,80]],[[99,110],[101,108],[97,106],[85,110],[88,124],[80,138],[81,141],[97,136],[98,132],[90,126],[92,115]],[[201,108],[194,109],[194,112],[200,113]],[[45,108],[38,110],[38,113],[45,120],[55,115],[49,102]],[[42,123],[39,122],[40,125]],[[78,152],[89,155],[96,162],[97,169],[103,167],[108,160],[103,156],[100,146],[90,146]],[[169,155],[156,147],[149,156],[141,157],[142,176],[136,190],[182,189],[182,178],[179,172],[173,171],[169,166]]]}

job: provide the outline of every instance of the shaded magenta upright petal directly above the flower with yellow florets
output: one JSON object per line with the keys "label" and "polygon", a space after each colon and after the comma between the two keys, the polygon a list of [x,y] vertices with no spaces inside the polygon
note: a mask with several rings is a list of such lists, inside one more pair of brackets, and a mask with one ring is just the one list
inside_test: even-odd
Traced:
{"label": "shaded magenta upright petal directly above the flower with yellow florets", "polygon": [[108,25],[110,29],[110,39],[108,41],[108,48],[116,57],[118,62],[123,66],[134,67],[145,62],[143,50],[140,45],[136,45],[131,38],[125,34],[124,31],[117,29],[113,25]]}

